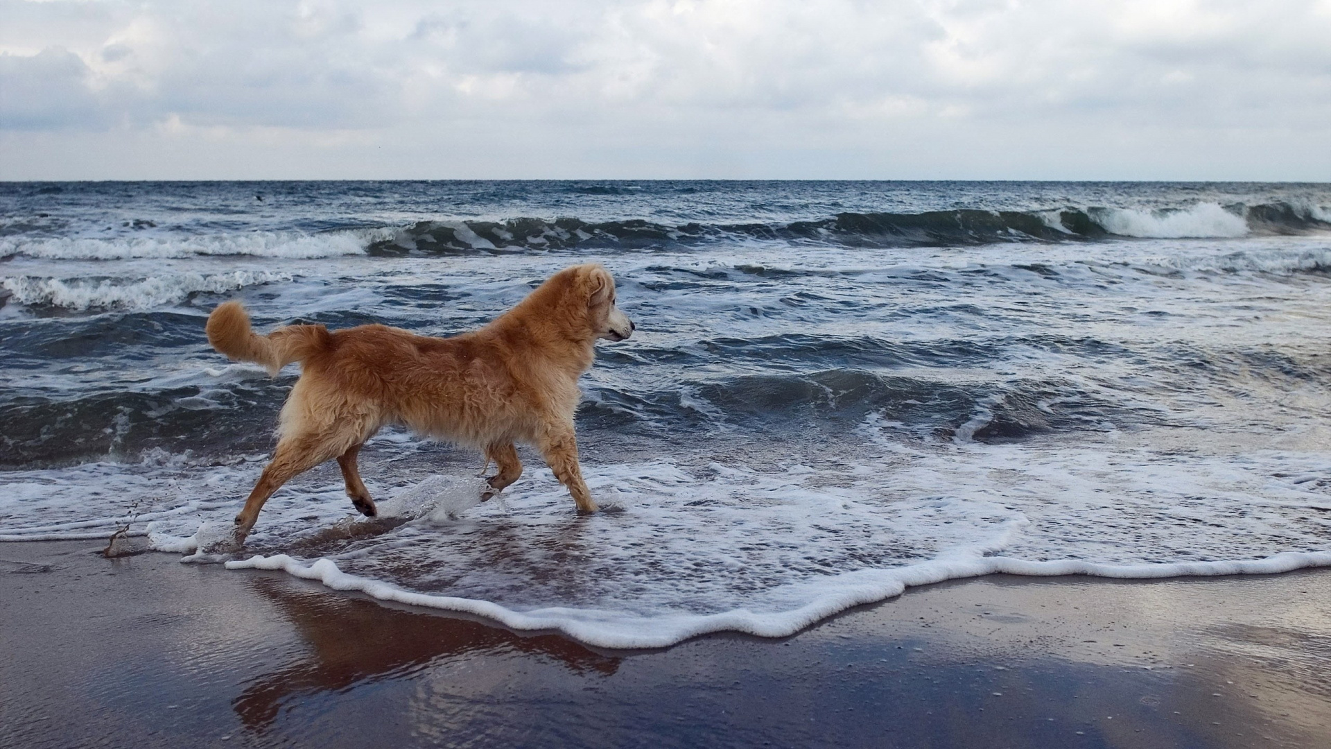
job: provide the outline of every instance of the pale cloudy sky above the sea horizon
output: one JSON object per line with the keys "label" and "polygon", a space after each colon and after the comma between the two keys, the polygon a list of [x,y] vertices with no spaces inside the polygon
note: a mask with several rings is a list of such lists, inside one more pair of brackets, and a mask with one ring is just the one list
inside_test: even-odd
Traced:
{"label": "pale cloudy sky above the sea horizon", "polygon": [[0,179],[1331,180],[1331,0],[0,0]]}

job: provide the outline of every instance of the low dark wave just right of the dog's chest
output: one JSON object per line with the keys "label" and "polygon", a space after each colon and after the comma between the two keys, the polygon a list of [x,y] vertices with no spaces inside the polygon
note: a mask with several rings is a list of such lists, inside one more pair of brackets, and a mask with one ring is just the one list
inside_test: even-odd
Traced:
{"label": "low dark wave just right of the dog's chest", "polygon": [[1103,432],[1159,422],[1158,410],[1126,405],[1059,380],[958,380],[945,369],[823,369],[685,378],[663,389],[586,389],[579,421],[588,429],[644,437],[666,428],[699,434],[761,430],[769,438],[812,430],[843,434],[868,413],[926,441],[1008,442],[1050,432]]}

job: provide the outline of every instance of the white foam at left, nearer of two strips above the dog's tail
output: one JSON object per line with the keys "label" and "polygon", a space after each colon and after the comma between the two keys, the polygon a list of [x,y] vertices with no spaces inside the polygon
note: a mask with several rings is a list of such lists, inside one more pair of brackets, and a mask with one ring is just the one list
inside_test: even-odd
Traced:
{"label": "white foam at left, nearer of two strips above the dog's tail", "polygon": [[273,271],[230,271],[225,273],[172,273],[146,279],[52,279],[36,276],[0,277],[0,288],[13,293],[12,301],[65,309],[149,309],[174,304],[197,292],[224,293],[290,281],[293,276]]}

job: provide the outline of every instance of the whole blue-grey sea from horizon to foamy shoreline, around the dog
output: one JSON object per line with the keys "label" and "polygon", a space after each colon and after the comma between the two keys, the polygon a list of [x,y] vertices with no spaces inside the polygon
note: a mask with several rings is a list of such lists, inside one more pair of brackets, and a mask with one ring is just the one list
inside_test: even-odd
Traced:
{"label": "whole blue-grey sea from horizon to foamy shoreline, around the dog", "polygon": [[[204,339],[483,324],[600,261],[638,324],[530,450],[385,430],[224,533],[298,368]],[[648,648],[910,585],[1331,565],[1331,185],[0,184],[0,542],[106,538]],[[206,549],[205,549],[206,552]]]}

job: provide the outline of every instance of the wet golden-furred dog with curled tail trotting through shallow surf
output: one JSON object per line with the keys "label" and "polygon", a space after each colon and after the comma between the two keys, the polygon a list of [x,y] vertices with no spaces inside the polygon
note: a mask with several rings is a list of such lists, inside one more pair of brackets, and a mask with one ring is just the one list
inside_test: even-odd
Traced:
{"label": "wet golden-furred dog with curled tail trotting through shallow surf", "polygon": [[286,325],[260,336],[238,301],[218,305],[206,325],[218,352],[262,364],[273,376],[301,363],[273,461],[236,516],[236,541],[245,541],[273,492],[330,458],[342,468],[355,509],[375,517],[355,458],[387,424],[480,449],[498,468],[482,500],[522,476],[515,442],[532,445],[578,510],[596,512],[578,465],[574,410],[596,340],[623,341],[636,329],[615,301],[615,279],[586,264],[555,273],[488,325],[450,339],[387,325]]}

